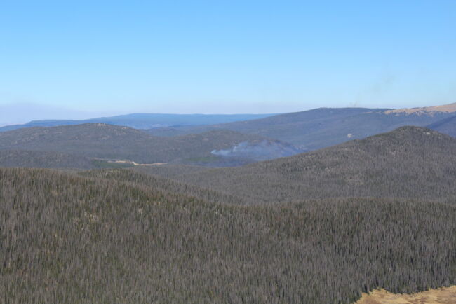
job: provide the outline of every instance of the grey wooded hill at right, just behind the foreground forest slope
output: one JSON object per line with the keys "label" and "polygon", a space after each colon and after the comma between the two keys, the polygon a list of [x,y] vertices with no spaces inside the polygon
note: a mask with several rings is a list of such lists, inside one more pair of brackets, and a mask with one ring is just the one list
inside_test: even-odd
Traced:
{"label": "grey wooded hill at right, just behind the foreground forest slope", "polygon": [[173,178],[249,203],[336,197],[455,201],[456,139],[400,127],[297,156]]}

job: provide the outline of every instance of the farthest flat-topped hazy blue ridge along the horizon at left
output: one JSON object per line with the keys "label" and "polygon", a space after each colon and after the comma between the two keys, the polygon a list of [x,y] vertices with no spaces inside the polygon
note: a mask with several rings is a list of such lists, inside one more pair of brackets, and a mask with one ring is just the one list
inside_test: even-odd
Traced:
{"label": "farthest flat-topped hazy blue ridge along the horizon at left", "polygon": [[22,129],[24,127],[55,127],[59,125],[81,125],[84,123],[107,123],[122,125],[135,129],[182,125],[213,125],[232,123],[240,120],[264,118],[274,114],[149,114],[133,113],[128,115],[91,118],[85,120],[36,120],[23,125],[7,125],[0,127],[0,132]]}

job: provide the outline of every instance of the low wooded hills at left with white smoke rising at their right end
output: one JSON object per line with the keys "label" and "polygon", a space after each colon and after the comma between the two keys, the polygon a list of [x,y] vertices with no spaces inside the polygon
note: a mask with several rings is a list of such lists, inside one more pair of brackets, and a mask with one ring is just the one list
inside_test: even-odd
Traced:
{"label": "low wooded hills at left with white smoke rising at their right end", "polygon": [[[236,146],[240,144],[245,153],[228,153],[227,156],[217,154],[217,151],[239,151]],[[258,153],[255,149],[257,146],[261,146],[265,154]],[[0,149],[53,151],[102,160],[129,160],[140,164],[188,163],[215,166],[239,165],[300,152],[281,141],[229,130],[163,138],[130,127],[106,124],[31,127],[1,132]]]}

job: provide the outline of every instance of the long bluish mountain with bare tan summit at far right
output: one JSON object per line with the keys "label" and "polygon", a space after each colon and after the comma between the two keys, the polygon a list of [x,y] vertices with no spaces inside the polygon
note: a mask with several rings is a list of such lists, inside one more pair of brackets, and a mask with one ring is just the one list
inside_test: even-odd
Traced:
{"label": "long bluish mountain with bare tan summit at far right", "polygon": [[314,109],[219,125],[148,130],[156,136],[175,136],[227,129],[279,139],[303,150],[316,150],[350,139],[362,139],[405,125],[426,126],[455,116],[456,104],[419,109]]}

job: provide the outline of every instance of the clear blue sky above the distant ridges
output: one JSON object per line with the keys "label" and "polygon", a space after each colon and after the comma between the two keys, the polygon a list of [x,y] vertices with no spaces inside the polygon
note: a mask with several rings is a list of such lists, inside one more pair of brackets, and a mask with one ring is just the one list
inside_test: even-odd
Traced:
{"label": "clear blue sky above the distant ridges", "polygon": [[0,109],[267,113],[451,102],[455,0],[0,2]]}

